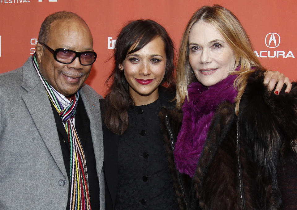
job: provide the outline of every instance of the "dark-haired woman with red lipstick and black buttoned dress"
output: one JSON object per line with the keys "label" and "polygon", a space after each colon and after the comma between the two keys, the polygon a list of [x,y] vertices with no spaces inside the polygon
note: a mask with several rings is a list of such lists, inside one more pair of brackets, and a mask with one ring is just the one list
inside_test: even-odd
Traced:
{"label": "dark-haired woman with red lipstick and black buttoned dress", "polygon": [[119,33],[114,60],[101,100],[106,209],[177,209],[158,117],[175,106],[173,42],[155,21],[136,20]]}

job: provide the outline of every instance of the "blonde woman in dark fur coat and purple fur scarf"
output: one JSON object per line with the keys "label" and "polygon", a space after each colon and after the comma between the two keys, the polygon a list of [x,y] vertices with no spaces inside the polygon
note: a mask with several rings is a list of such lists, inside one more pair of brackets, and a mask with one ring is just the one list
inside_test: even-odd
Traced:
{"label": "blonde woman in dark fur coat and purple fur scarf", "polygon": [[[192,16],[176,73],[181,127],[180,114],[162,113],[168,139],[180,129],[174,158],[181,208],[297,208],[297,87],[287,93],[286,82],[273,93],[264,72],[229,10],[204,6]],[[193,191],[183,177],[192,178]]]}

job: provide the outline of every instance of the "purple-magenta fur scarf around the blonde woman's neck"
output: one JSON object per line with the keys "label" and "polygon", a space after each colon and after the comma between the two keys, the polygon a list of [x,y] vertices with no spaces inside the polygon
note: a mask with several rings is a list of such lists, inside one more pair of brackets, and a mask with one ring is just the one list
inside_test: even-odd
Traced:
{"label": "purple-magenta fur scarf around the blonde woman's neck", "polygon": [[207,137],[213,115],[220,103],[234,103],[237,90],[233,82],[238,75],[229,75],[213,86],[192,82],[188,87],[189,103],[183,104],[183,123],[175,144],[174,158],[181,173],[193,177]]}

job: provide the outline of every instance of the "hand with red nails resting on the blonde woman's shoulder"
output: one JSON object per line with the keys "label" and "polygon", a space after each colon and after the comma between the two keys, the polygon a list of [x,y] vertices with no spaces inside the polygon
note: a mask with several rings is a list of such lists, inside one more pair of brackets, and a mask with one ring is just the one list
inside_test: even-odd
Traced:
{"label": "hand with red nails resting on the blonde woman's shoulder", "polygon": [[290,82],[290,79],[287,78],[284,74],[278,72],[278,71],[266,71],[264,73],[264,81],[263,83],[265,85],[268,86],[268,90],[272,91],[275,84],[278,82],[275,90],[274,90],[274,94],[279,94],[279,92],[282,90],[282,86],[284,85],[284,83],[286,83],[286,93],[289,93],[291,91],[292,88],[292,84]]}

